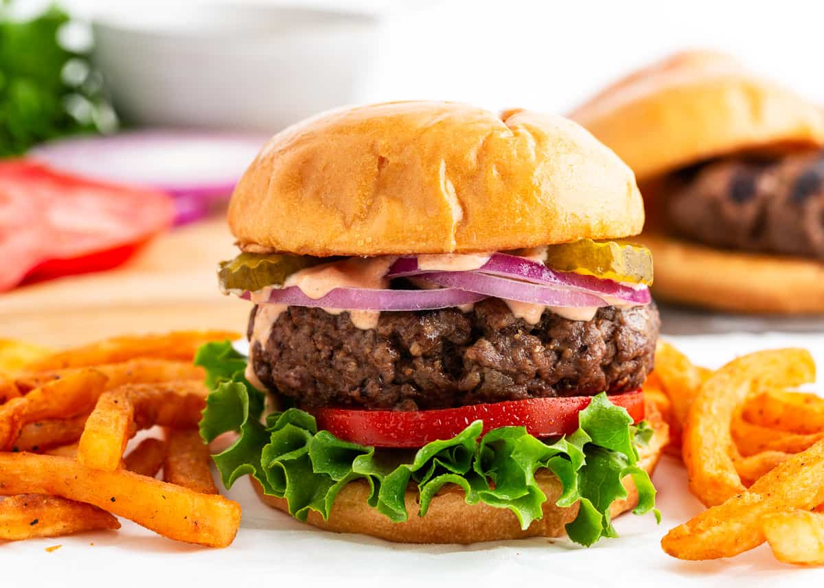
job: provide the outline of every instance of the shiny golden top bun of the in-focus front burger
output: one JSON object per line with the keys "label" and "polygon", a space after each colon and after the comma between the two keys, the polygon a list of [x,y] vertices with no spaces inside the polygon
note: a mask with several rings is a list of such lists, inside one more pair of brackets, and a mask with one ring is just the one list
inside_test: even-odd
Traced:
{"label": "shiny golden top bun of the in-focus front burger", "polygon": [[578,124],[449,102],[337,110],[287,128],[229,205],[241,247],[319,256],[498,251],[643,225],[632,171]]}

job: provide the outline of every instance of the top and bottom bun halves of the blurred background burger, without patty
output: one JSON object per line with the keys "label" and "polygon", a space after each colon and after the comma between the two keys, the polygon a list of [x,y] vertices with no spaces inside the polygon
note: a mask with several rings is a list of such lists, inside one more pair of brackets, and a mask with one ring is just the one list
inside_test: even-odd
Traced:
{"label": "top and bottom bun halves of the blurred background burger, without patty", "polygon": [[570,117],[635,172],[662,300],[765,314],[824,312],[814,259],[720,250],[665,236],[665,177],[714,157],[777,155],[824,146],[824,111],[723,54],[673,55],[608,86]]}

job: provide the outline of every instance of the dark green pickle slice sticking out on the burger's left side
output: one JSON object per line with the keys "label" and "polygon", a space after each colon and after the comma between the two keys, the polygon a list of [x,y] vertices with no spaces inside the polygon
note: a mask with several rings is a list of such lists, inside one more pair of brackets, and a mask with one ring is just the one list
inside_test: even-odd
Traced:
{"label": "dark green pickle slice sticking out on the burger's left side", "polygon": [[218,281],[224,292],[257,292],[266,286],[283,286],[286,278],[293,273],[330,261],[335,261],[335,258],[279,253],[241,253],[235,259],[220,262]]}

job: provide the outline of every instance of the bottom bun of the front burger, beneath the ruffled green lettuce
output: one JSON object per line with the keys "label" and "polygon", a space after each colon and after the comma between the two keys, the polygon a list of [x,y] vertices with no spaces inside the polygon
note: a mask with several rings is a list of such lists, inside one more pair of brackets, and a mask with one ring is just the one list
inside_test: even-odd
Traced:
{"label": "bottom bun of the front burger, beneath the ruffled green lettuce", "polygon": [[[648,413],[647,420],[655,434],[647,446],[640,448],[641,465],[652,474],[661,457],[662,448],[669,440],[669,433],[667,424],[662,422],[658,413]],[[367,534],[400,543],[471,544],[523,537],[559,537],[565,532],[564,525],[578,516],[578,503],[566,508],[555,506],[561,495],[559,479],[547,469],[541,469],[535,478],[547,500],[543,505],[543,518],[533,521],[526,530],[521,529],[512,511],[482,503],[466,504],[463,491],[454,484],[448,484],[438,492],[430,503],[426,516],[414,514],[418,511],[418,492],[410,486],[406,491],[406,511],[412,514],[403,523],[393,523],[368,506],[366,501],[369,486],[364,480],[356,480],[341,489],[332,506],[329,520],[324,520],[316,511],[310,511],[307,523],[338,533]],[[263,502],[281,511],[288,511],[283,498],[265,496],[263,488],[254,478],[252,483]],[[623,483],[629,496],[612,503],[612,517],[630,511],[638,504],[638,491],[632,479],[627,477]]]}

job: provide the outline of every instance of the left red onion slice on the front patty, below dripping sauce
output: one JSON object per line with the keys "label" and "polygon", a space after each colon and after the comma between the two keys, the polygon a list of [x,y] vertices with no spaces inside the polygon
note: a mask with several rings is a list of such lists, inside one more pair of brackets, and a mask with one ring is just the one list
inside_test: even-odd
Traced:
{"label": "left red onion slice on the front patty, below dripping sauce", "polygon": [[[250,299],[245,292],[243,298]],[[335,288],[322,298],[310,298],[297,286],[272,290],[269,302],[288,306],[316,306],[344,310],[434,310],[481,301],[475,292],[442,288],[438,290],[371,290]]]}

